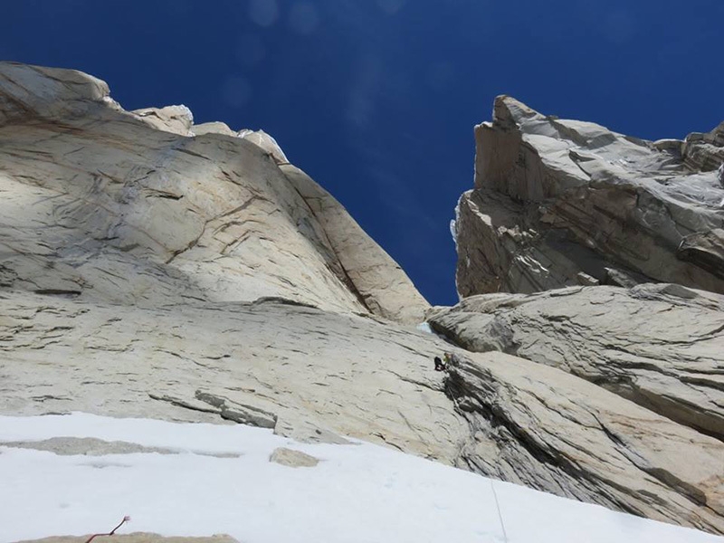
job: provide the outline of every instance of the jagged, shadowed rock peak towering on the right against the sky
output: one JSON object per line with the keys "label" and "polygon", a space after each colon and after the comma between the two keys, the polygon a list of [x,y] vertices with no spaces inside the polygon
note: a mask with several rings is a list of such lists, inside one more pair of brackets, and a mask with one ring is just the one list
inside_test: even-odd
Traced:
{"label": "jagged, shadowed rock peak towering on the right against the sky", "polygon": [[475,136],[453,228],[462,297],[642,281],[724,292],[722,125],[649,142],[500,97]]}

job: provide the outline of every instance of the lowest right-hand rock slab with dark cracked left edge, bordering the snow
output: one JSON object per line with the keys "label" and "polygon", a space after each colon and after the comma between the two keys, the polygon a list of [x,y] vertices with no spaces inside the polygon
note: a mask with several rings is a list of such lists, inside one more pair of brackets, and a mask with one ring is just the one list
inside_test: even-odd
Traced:
{"label": "lowest right-hand rock slab with dark cracked left edge, bordering the snow", "polygon": [[461,358],[448,392],[476,472],[650,519],[724,533],[724,444],[563,371],[502,353]]}

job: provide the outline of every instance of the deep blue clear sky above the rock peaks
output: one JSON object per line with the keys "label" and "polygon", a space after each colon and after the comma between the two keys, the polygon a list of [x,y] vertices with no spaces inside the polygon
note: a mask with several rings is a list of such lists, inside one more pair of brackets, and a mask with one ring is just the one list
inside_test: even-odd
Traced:
{"label": "deep blue clear sky above the rock peaks", "polygon": [[23,0],[2,3],[0,58],[266,130],[450,304],[449,222],[496,95],[682,138],[724,119],[723,37],[722,0]]}

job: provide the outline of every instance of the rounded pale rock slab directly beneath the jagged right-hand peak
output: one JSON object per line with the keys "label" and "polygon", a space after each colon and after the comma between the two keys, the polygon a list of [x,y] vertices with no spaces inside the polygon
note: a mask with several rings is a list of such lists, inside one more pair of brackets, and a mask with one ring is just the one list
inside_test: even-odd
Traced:
{"label": "rounded pale rock slab directly beneath the jagged right-hand peak", "polygon": [[558,367],[724,441],[724,296],[570,287],[472,296],[431,321],[464,348]]}

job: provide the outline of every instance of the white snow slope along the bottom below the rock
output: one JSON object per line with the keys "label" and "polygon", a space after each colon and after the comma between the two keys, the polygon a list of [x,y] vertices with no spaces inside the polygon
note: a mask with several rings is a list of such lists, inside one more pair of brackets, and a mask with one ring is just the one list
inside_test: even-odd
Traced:
{"label": "white snow slope along the bottom below the rock", "polygon": [[[132,521],[119,534],[227,533],[249,543],[724,540],[369,443],[301,444],[242,425],[90,414],[0,416],[0,442],[59,436],[178,453],[56,455],[0,446],[1,542],[107,531],[124,515]],[[321,462],[307,468],[270,462],[277,447]]]}

